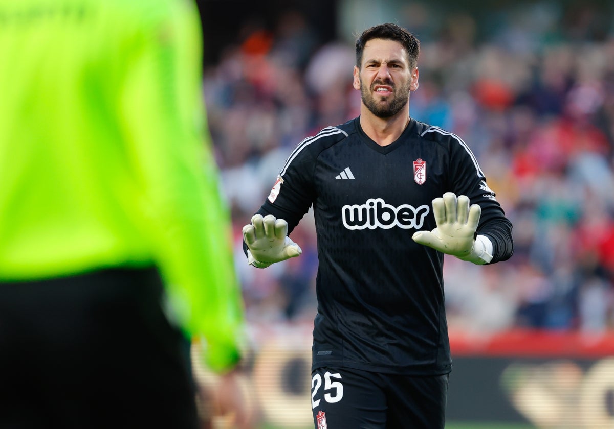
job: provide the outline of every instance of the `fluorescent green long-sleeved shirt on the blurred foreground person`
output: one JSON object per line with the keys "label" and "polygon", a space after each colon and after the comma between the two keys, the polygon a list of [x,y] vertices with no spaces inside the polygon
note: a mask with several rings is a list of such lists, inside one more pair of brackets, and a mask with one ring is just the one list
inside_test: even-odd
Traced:
{"label": "fluorescent green long-sleeved shirt on the blurred foreground person", "polygon": [[181,0],[0,0],[0,281],[157,265],[209,363],[236,359],[230,222]]}

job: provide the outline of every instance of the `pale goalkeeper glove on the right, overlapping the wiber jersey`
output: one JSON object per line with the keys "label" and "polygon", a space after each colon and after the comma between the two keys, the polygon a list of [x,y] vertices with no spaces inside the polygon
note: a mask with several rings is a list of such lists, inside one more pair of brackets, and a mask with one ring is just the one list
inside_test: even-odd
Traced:
{"label": "pale goalkeeper glove on the right, overlapping the wiber jersey", "polygon": [[467,196],[458,198],[454,192],[433,200],[433,214],[437,227],[432,231],[418,231],[413,240],[442,253],[468,260],[473,264],[488,264],[492,260],[492,241],[484,235],[475,237],[482,209],[478,204],[469,207]]}

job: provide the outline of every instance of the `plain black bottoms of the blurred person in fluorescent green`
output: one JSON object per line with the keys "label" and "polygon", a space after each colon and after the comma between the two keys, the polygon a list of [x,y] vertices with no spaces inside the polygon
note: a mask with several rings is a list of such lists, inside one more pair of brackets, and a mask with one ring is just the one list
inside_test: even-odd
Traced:
{"label": "plain black bottoms of the blurred person in fluorescent green", "polygon": [[0,283],[1,428],[196,428],[157,270]]}

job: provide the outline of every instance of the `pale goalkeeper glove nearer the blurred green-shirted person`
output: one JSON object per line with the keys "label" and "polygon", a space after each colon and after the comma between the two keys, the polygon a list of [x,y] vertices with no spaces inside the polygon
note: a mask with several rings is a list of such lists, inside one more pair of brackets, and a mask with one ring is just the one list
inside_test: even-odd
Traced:
{"label": "pale goalkeeper glove nearer the blurred green-shirted person", "polygon": [[247,245],[247,263],[257,268],[266,268],[302,252],[288,237],[288,222],[275,219],[273,214],[264,217],[254,214],[252,223],[243,227],[243,240]]}

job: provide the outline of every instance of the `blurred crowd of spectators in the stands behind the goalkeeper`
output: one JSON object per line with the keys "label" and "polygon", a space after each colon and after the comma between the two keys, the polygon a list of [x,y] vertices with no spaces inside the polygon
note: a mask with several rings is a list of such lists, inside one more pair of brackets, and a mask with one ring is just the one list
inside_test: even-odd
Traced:
{"label": "blurred crowd of spectators in the stands behind the goalkeeper", "polygon": [[[422,48],[411,116],[467,142],[514,224],[508,262],[476,267],[446,258],[451,331],[614,329],[614,15],[564,4],[440,20],[437,6],[398,10],[397,22]],[[323,41],[317,25],[287,12],[274,28],[246,24],[205,69],[253,324],[313,320],[311,213],[292,233],[303,254],[266,270],[247,266],[241,228],[301,140],[358,115],[354,63],[350,40]]]}

